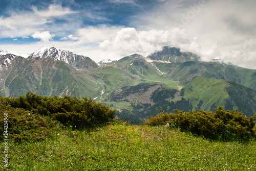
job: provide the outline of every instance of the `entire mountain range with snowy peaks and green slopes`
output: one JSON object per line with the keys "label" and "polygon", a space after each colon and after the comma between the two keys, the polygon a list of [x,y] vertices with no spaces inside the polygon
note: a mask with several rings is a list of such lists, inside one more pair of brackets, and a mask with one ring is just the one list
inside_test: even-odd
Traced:
{"label": "entire mountain range with snowy peaks and green slopes", "polygon": [[218,106],[256,112],[256,70],[219,61],[204,62],[191,52],[164,46],[97,63],[89,57],[41,47],[30,55],[0,50],[0,95],[28,91],[46,96],[87,96],[117,109],[117,117],[140,123],[162,110],[210,110]]}

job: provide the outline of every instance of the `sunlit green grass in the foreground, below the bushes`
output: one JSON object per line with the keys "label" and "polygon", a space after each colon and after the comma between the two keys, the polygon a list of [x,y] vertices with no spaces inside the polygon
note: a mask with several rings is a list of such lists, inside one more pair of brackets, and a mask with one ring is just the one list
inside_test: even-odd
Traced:
{"label": "sunlit green grass in the foreground, below the bushes", "polygon": [[39,142],[9,141],[8,170],[256,170],[255,163],[256,140],[211,141],[179,129],[115,121],[87,131],[53,130]]}

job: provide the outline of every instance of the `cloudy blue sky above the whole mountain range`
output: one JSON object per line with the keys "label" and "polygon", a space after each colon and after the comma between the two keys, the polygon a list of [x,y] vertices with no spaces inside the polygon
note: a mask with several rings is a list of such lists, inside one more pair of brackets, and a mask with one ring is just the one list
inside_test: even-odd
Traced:
{"label": "cloudy blue sky above the whole mountain range", "polygon": [[253,0],[0,0],[0,49],[42,46],[95,61],[180,47],[256,69]]}

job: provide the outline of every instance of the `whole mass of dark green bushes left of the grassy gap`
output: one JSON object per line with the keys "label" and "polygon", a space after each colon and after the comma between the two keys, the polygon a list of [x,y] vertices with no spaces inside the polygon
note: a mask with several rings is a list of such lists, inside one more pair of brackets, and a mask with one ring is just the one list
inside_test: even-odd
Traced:
{"label": "whole mass of dark green bushes left of the grassy gap", "polygon": [[[40,96],[28,92],[17,98],[0,96],[0,124],[4,125],[4,113],[8,113],[10,135],[13,139],[44,139],[50,128],[59,121],[76,129],[94,127],[114,119],[115,110],[83,97]],[[30,114],[28,114],[30,113]],[[2,132],[1,132],[2,131]],[[3,136],[3,129],[0,131]]]}

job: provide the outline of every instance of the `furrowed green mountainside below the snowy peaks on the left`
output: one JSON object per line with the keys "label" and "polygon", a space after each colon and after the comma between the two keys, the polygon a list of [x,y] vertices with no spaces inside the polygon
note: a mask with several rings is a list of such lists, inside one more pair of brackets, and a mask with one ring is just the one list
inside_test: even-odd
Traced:
{"label": "furrowed green mountainside below the snowy peaks on the left", "polygon": [[[4,57],[1,57],[5,60]],[[24,95],[28,91],[47,96],[97,96],[101,89],[92,77],[63,61],[13,57],[1,72],[1,95]]]}

